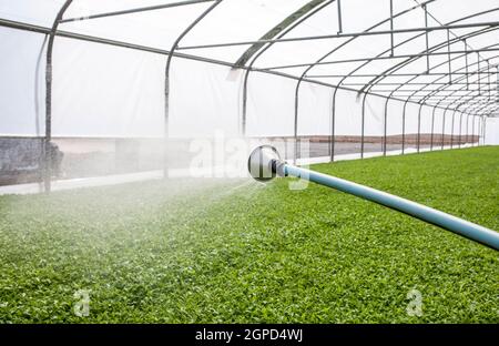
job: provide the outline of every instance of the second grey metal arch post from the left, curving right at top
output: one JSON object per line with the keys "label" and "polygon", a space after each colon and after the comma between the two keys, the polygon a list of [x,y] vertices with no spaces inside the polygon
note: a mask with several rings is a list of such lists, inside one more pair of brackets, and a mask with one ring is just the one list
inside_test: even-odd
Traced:
{"label": "second grey metal arch post from the left, curving right at top", "polygon": [[[223,0],[215,0],[212,6],[210,6],[206,10],[201,13],[174,41],[172,49],[170,50],[170,54],[166,59],[166,67],[165,67],[165,81],[164,81],[164,138],[165,138],[165,147],[164,151],[166,153],[166,141],[170,136],[169,134],[169,122],[170,122],[170,71],[172,65],[172,59],[173,54],[175,53],[175,50],[179,48],[179,43],[182,41],[182,39],[200,22],[205,18],[213,9],[215,9]],[[164,154],[164,167],[163,167],[163,175],[164,177],[167,176],[167,167],[166,167],[166,154]]]}

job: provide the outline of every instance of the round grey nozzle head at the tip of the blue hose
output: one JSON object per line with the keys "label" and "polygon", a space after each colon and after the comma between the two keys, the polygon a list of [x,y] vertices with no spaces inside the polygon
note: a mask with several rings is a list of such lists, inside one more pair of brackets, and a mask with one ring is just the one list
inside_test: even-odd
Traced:
{"label": "round grey nozzle head at the tip of the blue hose", "polygon": [[285,162],[281,160],[278,151],[272,145],[256,147],[247,160],[249,174],[258,182],[267,182],[274,177],[285,176]]}

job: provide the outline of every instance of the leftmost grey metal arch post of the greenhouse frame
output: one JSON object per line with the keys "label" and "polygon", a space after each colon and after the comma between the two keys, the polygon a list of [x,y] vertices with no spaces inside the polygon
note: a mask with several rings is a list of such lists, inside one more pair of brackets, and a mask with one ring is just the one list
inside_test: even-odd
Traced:
{"label": "leftmost grey metal arch post of the greenhouse frame", "polygon": [[55,41],[55,33],[59,28],[59,23],[64,17],[65,11],[71,6],[73,0],[67,0],[59,10],[52,29],[50,30],[49,41],[47,44],[47,65],[45,65],[45,138],[43,141],[43,185],[44,191],[48,193],[52,185],[52,157],[50,150],[50,141],[52,140],[52,58],[53,58],[53,43]]}

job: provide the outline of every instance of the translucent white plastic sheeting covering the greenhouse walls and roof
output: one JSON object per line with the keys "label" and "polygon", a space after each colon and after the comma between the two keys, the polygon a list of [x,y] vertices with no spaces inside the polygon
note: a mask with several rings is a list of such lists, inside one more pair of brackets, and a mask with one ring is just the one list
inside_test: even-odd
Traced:
{"label": "translucent white plastic sheeting covering the greenhouse walls and roof", "polygon": [[0,0],[1,135],[47,134],[52,28],[53,138],[163,138],[172,49],[171,138],[498,135],[497,0]]}

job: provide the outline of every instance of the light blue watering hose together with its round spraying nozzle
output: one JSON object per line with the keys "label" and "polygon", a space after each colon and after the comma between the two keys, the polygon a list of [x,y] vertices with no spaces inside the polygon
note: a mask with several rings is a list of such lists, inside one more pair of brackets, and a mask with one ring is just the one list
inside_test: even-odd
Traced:
{"label": "light blue watering hose together with its round spraying nozzle", "polygon": [[259,182],[267,182],[276,176],[304,179],[381,204],[499,251],[498,232],[373,187],[291,165],[281,160],[279,153],[274,146],[256,147],[249,155],[247,166],[249,174]]}

